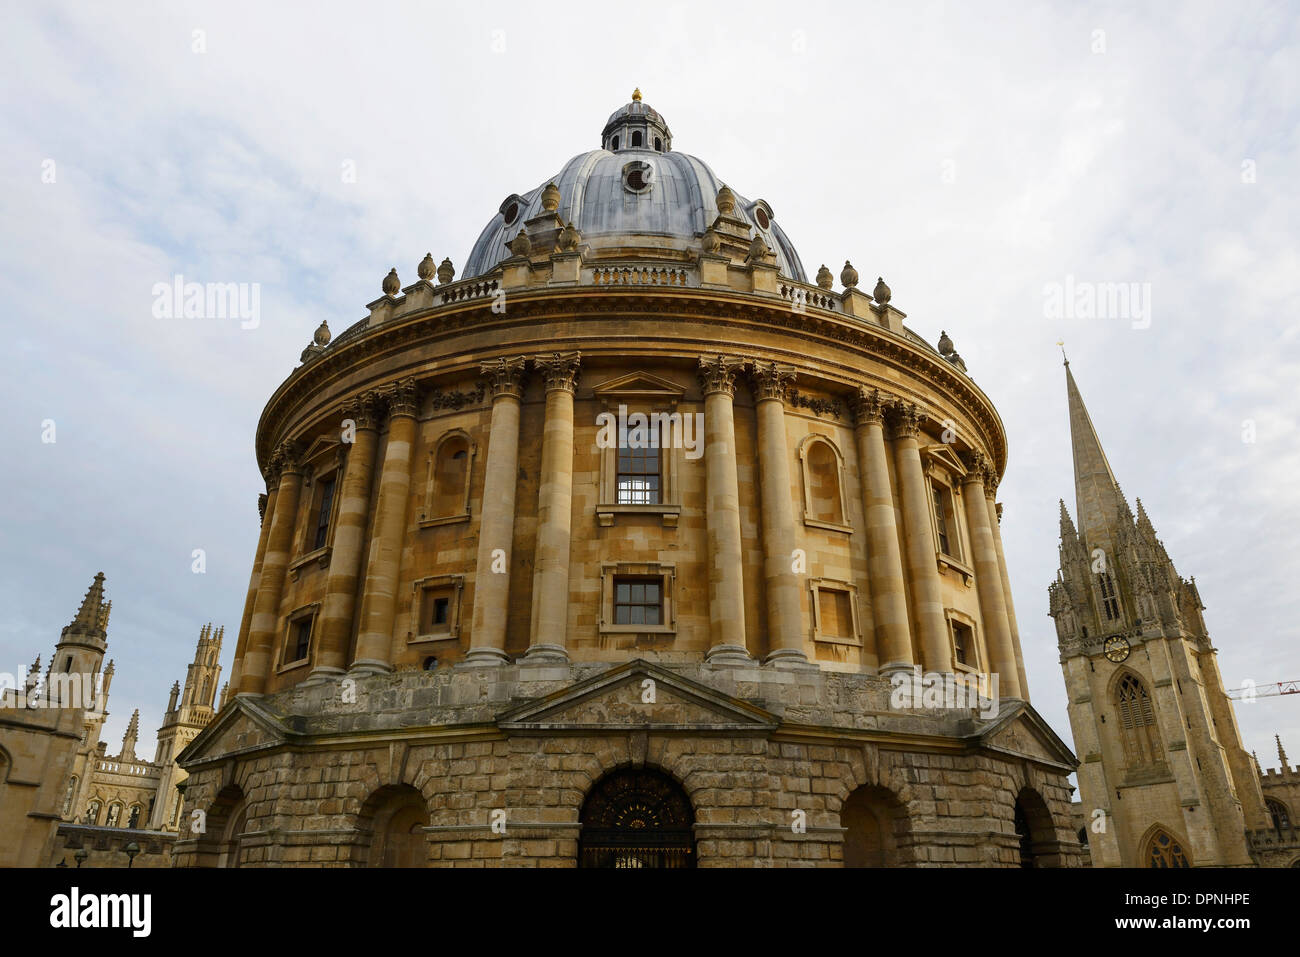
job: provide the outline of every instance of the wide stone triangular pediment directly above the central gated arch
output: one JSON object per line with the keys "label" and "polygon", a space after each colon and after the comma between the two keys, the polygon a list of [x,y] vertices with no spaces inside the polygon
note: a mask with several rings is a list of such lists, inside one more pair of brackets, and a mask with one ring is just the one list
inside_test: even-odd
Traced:
{"label": "wide stone triangular pediment directly above the central gated arch", "polygon": [[757,705],[636,659],[511,709],[507,731],[767,732],[777,718]]}

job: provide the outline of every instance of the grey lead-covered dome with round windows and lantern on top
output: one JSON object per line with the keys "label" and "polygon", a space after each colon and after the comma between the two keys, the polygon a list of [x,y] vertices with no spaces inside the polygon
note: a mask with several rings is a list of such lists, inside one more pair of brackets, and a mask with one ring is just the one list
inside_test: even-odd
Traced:
{"label": "grey lead-covered dome with round windows and lantern on top", "polygon": [[[511,255],[506,243],[545,212],[542,192],[549,183],[559,190],[555,213],[572,222],[582,242],[597,252],[614,247],[698,250],[705,230],[718,218],[716,198],[723,186],[708,164],[672,150],[667,121],[641,101],[640,91],[610,117],[601,143],[601,150],[575,156],[533,190],[507,196],[478,235],[464,277],[489,273]],[[776,254],[777,270],[807,282],[798,252],[776,224],[772,207],[731,189],[736,195],[733,215]]]}

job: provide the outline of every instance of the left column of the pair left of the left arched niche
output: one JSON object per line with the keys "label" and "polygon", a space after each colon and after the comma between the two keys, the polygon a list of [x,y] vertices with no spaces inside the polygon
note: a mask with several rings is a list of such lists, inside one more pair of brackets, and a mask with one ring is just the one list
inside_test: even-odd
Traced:
{"label": "left column of the pair left of the left arched niche", "polygon": [[352,637],[352,616],[356,611],[356,583],[361,576],[361,559],[365,554],[361,546],[370,510],[380,402],[378,394],[365,393],[343,406],[343,417],[352,423],[352,428],[344,432],[344,438],[351,438],[351,450],[343,467],[325,599],[316,627],[320,636],[316,666],[308,681],[342,675],[347,666],[347,644]]}

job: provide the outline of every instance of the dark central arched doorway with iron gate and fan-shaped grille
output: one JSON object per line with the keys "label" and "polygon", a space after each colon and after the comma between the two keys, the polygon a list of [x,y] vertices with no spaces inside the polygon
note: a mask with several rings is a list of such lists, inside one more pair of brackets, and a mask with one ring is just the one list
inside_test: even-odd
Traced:
{"label": "dark central arched doorway with iron gate and fan-shaped grille", "polygon": [[672,778],[624,768],[598,780],[582,802],[578,867],[694,867],[696,814]]}

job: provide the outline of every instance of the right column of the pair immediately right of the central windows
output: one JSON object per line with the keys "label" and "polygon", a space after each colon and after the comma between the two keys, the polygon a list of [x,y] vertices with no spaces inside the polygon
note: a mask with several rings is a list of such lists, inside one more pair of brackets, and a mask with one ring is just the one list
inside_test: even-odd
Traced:
{"label": "right column of the pair immediately right of the central windows", "polygon": [[790,456],[785,442],[785,389],[794,381],[794,368],[755,363],[753,372],[762,497],[763,584],[767,592],[768,653],[764,661],[779,666],[806,664],[800,584],[793,570],[794,498],[790,493]]}

